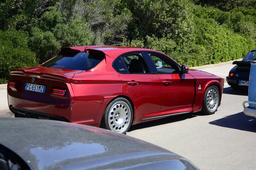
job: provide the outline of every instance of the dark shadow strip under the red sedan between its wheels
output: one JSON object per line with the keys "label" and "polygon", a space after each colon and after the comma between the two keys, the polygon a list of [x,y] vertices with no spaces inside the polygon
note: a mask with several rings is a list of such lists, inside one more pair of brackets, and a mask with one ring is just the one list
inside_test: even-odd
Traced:
{"label": "dark shadow strip under the red sedan between its wheels", "polygon": [[128,132],[131,132],[133,130],[147,128],[147,127],[164,125],[164,124],[167,124],[167,123],[179,122],[179,121],[183,121],[183,120],[186,120],[186,119],[191,119],[193,117],[196,117],[196,116],[192,115],[192,113],[178,115],[178,116],[170,116],[170,117],[163,118],[163,119],[158,119],[158,120],[153,120],[153,121],[150,121],[150,122],[144,122],[144,123],[140,123],[140,124],[137,124],[137,125],[133,125],[133,126],[130,127]]}

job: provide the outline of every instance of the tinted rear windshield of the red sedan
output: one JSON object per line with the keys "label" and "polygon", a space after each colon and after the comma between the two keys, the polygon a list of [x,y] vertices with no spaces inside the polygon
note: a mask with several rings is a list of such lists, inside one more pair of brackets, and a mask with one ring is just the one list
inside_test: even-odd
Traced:
{"label": "tinted rear windshield of the red sedan", "polygon": [[90,70],[98,65],[105,55],[101,53],[70,51],[60,53],[57,57],[45,62],[41,66],[70,70]]}

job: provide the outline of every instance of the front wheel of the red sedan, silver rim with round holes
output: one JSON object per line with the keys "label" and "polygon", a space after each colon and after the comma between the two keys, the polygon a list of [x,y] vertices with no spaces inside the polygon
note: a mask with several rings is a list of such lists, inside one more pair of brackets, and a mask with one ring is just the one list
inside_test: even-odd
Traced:
{"label": "front wheel of the red sedan, silver rim with round holes", "polygon": [[204,93],[202,113],[205,115],[214,114],[220,103],[220,92],[215,85],[210,86]]}

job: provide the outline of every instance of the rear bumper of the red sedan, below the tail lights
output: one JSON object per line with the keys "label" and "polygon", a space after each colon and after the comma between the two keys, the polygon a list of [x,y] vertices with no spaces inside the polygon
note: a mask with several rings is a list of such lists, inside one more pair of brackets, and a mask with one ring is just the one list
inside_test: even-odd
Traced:
{"label": "rear bumper of the red sedan, below the tail lights", "polygon": [[[20,99],[7,94],[9,109],[15,117],[51,119],[99,127],[106,105],[102,102],[46,103]],[[28,116],[29,117],[29,116]]]}

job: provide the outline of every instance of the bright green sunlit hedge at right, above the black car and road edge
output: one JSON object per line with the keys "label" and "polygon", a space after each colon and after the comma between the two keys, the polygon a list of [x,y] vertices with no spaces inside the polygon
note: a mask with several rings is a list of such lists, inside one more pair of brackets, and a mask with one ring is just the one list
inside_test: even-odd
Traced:
{"label": "bright green sunlit hedge at right, above the black car and road edge", "polygon": [[219,26],[213,19],[195,20],[197,44],[207,48],[210,63],[240,59],[255,47],[253,39],[243,37],[225,26]]}

